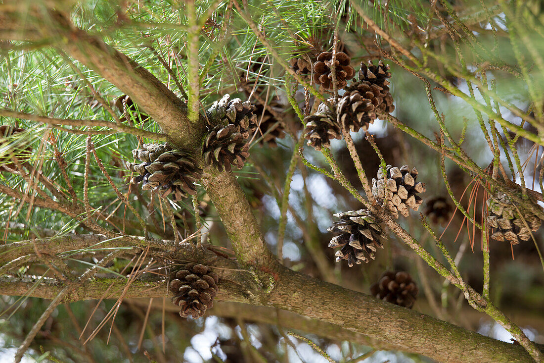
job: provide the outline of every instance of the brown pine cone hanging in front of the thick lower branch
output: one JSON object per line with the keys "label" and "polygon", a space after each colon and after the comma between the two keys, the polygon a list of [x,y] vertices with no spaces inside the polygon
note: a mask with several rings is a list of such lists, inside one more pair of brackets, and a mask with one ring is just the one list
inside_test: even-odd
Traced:
{"label": "brown pine cone hanging in front of the thick lower branch", "polygon": [[213,298],[219,288],[219,276],[209,267],[187,263],[181,270],[170,274],[169,288],[174,297],[172,302],[181,307],[180,316],[200,318],[206,309],[213,306]]}

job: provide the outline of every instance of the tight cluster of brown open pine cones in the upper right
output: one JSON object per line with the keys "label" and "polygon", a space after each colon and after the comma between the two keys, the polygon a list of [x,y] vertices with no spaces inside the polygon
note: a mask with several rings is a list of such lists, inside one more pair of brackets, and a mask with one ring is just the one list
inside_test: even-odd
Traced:
{"label": "tight cluster of brown open pine cones in the upper right", "polygon": [[[299,66],[298,63],[296,66]],[[378,65],[370,61],[368,65],[361,63],[358,81],[347,86],[347,81],[355,76],[355,70],[349,64],[350,59],[345,53],[336,54],[336,84],[338,89],[343,88],[345,92],[338,101],[329,98],[319,105],[316,113],[304,119],[307,144],[316,150],[329,147],[333,138],[342,138],[342,129],[353,132],[367,130],[378,118],[376,111],[391,113],[395,108],[387,81],[391,77],[388,65],[382,61]],[[313,64],[313,81],[327,89],[332,88],[331,65],[330,52],[321,53]]]}

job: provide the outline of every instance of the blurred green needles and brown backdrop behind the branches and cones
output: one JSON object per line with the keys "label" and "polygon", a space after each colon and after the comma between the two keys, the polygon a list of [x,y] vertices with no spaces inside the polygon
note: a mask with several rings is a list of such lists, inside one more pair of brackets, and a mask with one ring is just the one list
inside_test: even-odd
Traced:
{"label": "blurred green needles and brown backdrop behind the branches and cones", "polygon": [[[423,57],[421,53],[417,53],[415,44],[421,39],[427,41],[426,49],[436,57],[429,57],[425,66],[443,80],[447,80],[452,87],[468,94],[466,79],[472,79],[484,65],[488,65],[490,67],[487,80],[495,82],[496,93],[500,98],[527,112],[538,114],[542,110],[543,99],[537,97],[541,98],[542,95],[543,73],[539,63],[541,59],[535,57],[544,54],[541,50],[544,46],[544,13],[540,2],[523,2],[522,5],[518,4],[522,2],[505,1],[438,2],[436,7],[442,16],[455,23],[448,9],[452,14],[459,14],[470,33],[466,33],[465,38],[456,39],[457,44],[448,37],[432,11],[431,3],[427,1],[355,3],[380,28],[386,29],[409,49],[414,49],[416,56]],[[294,92],[299,106],[304,104],[304,92],[291,77],[286,80],[286,72],[278,60],[258,41],[232,3],[197,1],[195,5],[201,25],[199,59],[203,70],[200,90],[202,109],[205,110],[225,93],[230,93],[231,96],[239,96],[243,100],[249,98],[261,112],[259,118],[263,126],[251,142],[249,162],[246,162],[242,170],[234,173],[261,222],[270,249],[276,251],[280,219],[278,198],[281,196],[293,153],[296,141],[294,138],[301,132],[300,120],[289,104],[286,92]],[[183,2],[94,0],[66,2],[59,6],[70,11],[78,27],[103,37],[108,44],[150,70],[183,98],[172,77],[175,75],[187,89],[187,17]],[[378,42],[385,51],[391,50],[386,41],[364,24],[360,13],[349,1],[250,0],[248,6],[252,19],[267,39],[273,41],[277,52],[287,62],[302,54],[312,56],[312,52],[317,50],[330,50],[335,26],[341,46],[356,68],[360,62],[380,58],[380,52],[373,41]],[[505,9],[508,10],[506,13],[512,11],[514,15],[505,14]],[[430,40],[425,38],[425,34],[429,34]],[[50,38],[2,41],[2,108],[69,119],[112,120],[113,111],[123,123],[160,132],[158,125],[143,110],[139,110],[138,105],[132,104],[132,101],[125,100],[123,110],[123,94],[112,84],[78,62],[69,61],[63,52],[52,50],[49,45],[55,41],[57,40]],[[458,45],[460,50],[455,49]],[[466,67],[462,66],[460,54]],[[516,74],[497,69],[497,59],[500,59],[500,64],[514,69]],[[169,65],[171,72],[165,68],[164,62]],[[391,65],[394,116],[434,140],[440,132],[440,126],[429,106],[424,84],[393,62],[386,63]],[[433,83],[432,86],[438,84]],[[459,138],[465,132],[463,148],[481,168],[485,168],[492,161],[493,155],[487,147],[473,108],[449,92],[442,92],[443,86],[441,87],[432,94],[438,111],[446,117],[450,134]],[[480,94],[474,97],[482,100],[484,96]],[[313,103],[313,97],[311,102]],[[271,114],[267,107],[272,107],[276,114]],[[521,123],[520,118],[506,107],[501,106],[499,110],[512,124]],[[463,122],[463,119],[468,120],[468,123]],[[72,126],[60,129],[24,119],[15,121],[8,117],[0,117],[0,123],[24,129],[20,134],[11,137],[11,142],[31,147],[32,153],[28,162],[35,170],[52,180],[60,193],[69,195],[69,185],[61,177],[60,165],[63,162],[59,162],[60,155],[77,198],[83,200],[87,136],[74,132],[88,131],[89,128]],[[536,131],[535,125],[525,123],[522,126],[531,132]],[[66,129],[77,131],[70,132]],[[385,121],[376,121],[370,126],[369,133],[375,135],[376,143],[388,164],[417,166],[419,178],[426,183],[423,209],[432,197],[444,197],[452,206],[452,211],[454,210],[453,202],[444,187],[440,154]],[[269,135],[273,137],[267,137]],[[352,136],[367,176],[375,176],[379,167],[378,156],[364,140],[362,132]],[[501,131],[500,137],[505,137],[504,131]],[[92,136],[92,141],[98,158],[102,160],[115,185],[144,216],[151,237],[173,238],[174,232],[168,216],[164,213],[165,208],[174,209],[175,220],[183,238],[195,232],[193,201],[161,200],[157,196],[152,197],[149,192],[141,191],[135,185],[128,184],[130,176],[125,165],[126,162],[133,161],[131,150],[141,143],[153,140],[128,134],[113,134],[95,135]],[[5,146],[6,144],[0,145],[4,155],[8,150]],[[514,148],[523,165],[522,174],[526,185],[540,191],[537,179],[544,151],[539,145],[523,138],[517,140]],[[361,191],[361,184],[344,142],[333,140],[331,149],[342,171],[357,190]],[[311,148],[305,147],[305,156],[314,165],[326,166],[323,155]],[[508,165],[504,150],[502,161],[504,165]],[[446,172],[454,196],[461,198],[473,176],[448,159]],[[510,177],[520,183],[519,173]],[[41,187],[7,172],[0,173],[0,183],[21,191],[28,197],[32,197],[35,190]],[[460,202],[465,208],[470,208],[471,214],[475,213],[475,220],[480,221],[483,191],[480,189],[478,195],[474,193],[469,197],[473,187],[474,184],[468,187]],[[55,198],[50,190],[44,187],[41,189],[51,198]],[[205,243],[229,249],[230,244],[224,228],[202,187],[199,187],[197,200],[197,219],[203,225],[203,233],[198,238]],[[137,219],[118,199],[92,158],[89,202],[95,209],[97,223],[104,228],[131,235],[142,234]],[[464,300],[462,292],[435,274],[393,234],[385,240],[384,250],[376,254],[376,260],[372,263],[352,269],[343,263],[334,263],[335,251],[327,247],[331,235],[326,232],[326,228],[334,220],[332,214],[360,208],[361,204],[336,181],[327,179],[300,163],[294,173],[289,195],[287,229],[282,251],[284,263],[294,270],[365,293],[368,293],[369,286],[383,271],[408,271],[420,286],[420,294],[414,307],[416,310],[482,334],[509,340],[508,333],[500,330],[502,328],[498,329],[498,325],[484,314],[472,310]],[[426,250],[445,264],[445,259],[429,233],[418,222],[417,213],[412,214],[413,218],[400,220],[399,223]],[[438,235],[443,233],[442,239],[453,256],[456,256],[463,279],[481,291],[481,232],[474,231],[472,225],[467,226],[459,211],[446,228],[449,216],[446,222],[433,224],[432,229]],[[59,211],[32,204],[29,207],[28,204],[22,204],[7,195],[0,195],[0,223],[3,243],[89,232],[72,217]],[[542,250],[544,245],[541,232],[534,233],[534,237],[535,243],[529,241],[515,246],[498,241],[490,242],[491,296],[495,304],[519,324],[529,337],[535,342],[544,343],[544,274],[537,253],[537,246]],[[70,268],[83,270],[86,265],[81,262],[96,263],[101,253],[103,255],[101,251],[88,252],[92,253],[64,256],[62,259]],[[122,269],[133,266],[133,261],[119,258],[108,266],[109,271],[102,271],[101,274],[125,274]],[[11,273],[19,276],[54,275],[46,264],[28,265]],[[29,361],[38,359],[61,362],[325,361],[307,343],[288,337],[286,330],[281,327],[222,318],[220,313],[219,317],[181,319],[176,312],[163,312],[162,303],[153,305],[149,317],[146,318],[146,302],[130,300],[121,305],[111,332],[107,324],[94,339],[82,344],[113,304],[109,300],[93,300],[60,306],[39,332],[27,358]],[[170,303],[167,301],[166,304]],[[4,297],[0,305],[3,311],[0,317],[2,355],[11,356],[14,347],[20,344],[48,302],[34,298]],[[96,313],[90,317],[95,306]],[[86,334],[79,340],[81,330],[87,323],[89,327]],[[360,356],[366,358],[360,360],[365,362],[428,361],[414,355],[375,352],[372,347],[333,341],[326,337],[310,338],[330,354],[332,359],[339,362],[357,361],[355,359]]]}

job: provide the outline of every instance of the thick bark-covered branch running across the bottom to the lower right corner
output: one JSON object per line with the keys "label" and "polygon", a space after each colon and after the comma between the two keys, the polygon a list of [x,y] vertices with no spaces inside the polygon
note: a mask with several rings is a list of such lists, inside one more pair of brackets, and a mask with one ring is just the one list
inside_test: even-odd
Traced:
{"label": "thick bark-covered branch running across the bottom to the lower right corner", "polygon": [[[199,261],[210,265],[220,275],[217,300],[275,307],[306,318],[342,326],[347,331],[390,342],[397,349],[429,356],[438,361],[452,362],[524,362],[529,354],[519,346],[493,340],[459,326],[438,320],[417,311],[376,300],[369,295],[351,291],[310,276],[296,273],[279,264],[267,271],[273,280],[269,286],[257,279],[255,271],[244,269],[232,259],[222,258],[211,250],[182,244],[168,258],[174,261]],[[63,302],[98,299],[110,284],[107,298],[118,298],[126,280],[96,279],[71,291]],[[30,294],[51,299],[65,287],[63,282],[46,279],[3,277],[0,289],[6,295]],[[162,278],[136,280],[127,298],[165,297]],[[350,307],[356,308],[350,308]],[[315,332],[315,331],[314,331]]]}

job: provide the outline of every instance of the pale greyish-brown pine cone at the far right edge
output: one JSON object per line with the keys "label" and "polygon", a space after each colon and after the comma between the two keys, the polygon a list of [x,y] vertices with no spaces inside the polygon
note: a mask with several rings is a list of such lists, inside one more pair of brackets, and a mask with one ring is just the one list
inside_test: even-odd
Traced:
{"label": "pale greyish-brown pine cone at the far right edge", "polygon": [[496,196],[487,198],[486,223],[493,228],[492,239],[508,241],[512,245],[528,241],[531,235],[523,220],[533,232],[540,228],[540,218],[531,214],[524,214],[520,218],[514,203],[506,194],[499,192]]}

